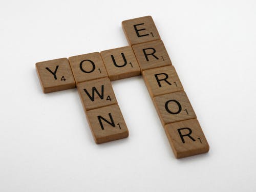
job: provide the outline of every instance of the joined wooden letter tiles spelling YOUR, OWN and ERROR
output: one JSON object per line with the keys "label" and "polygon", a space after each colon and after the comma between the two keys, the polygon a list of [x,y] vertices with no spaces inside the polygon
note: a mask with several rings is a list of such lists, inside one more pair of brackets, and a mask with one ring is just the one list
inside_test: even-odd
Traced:
{"label": "joined wooden letter tiles spelling YOUR, OWN and ERROR", "polygon": [[151,16],[122,22],[130,46],[36,63],[44,93],[77,87],[96,143],[128,137],[111,81],[143,76],[177,158],[209,151]]}

